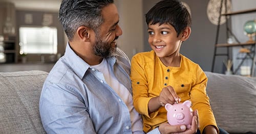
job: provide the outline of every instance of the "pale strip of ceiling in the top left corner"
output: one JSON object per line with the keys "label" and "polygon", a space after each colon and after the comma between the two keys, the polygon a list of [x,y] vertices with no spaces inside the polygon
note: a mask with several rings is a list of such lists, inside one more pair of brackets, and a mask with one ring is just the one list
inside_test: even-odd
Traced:
{"label": "pale strip of ceiling in the top left corner", "polygon": [[61,0],[0,0],[0,2],[11,2],[17,10],[58,12]]}

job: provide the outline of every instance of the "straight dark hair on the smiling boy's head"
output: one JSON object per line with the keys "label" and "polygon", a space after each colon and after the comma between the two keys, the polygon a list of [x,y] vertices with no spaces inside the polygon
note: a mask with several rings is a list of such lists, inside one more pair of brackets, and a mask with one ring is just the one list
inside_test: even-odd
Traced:
{"label": "straight dark hair on the smiling boy's head", "polygon": [[186,7],[178,0],[162,0],[146,13],[147,26],[158,24],[172,25],[177,36],[191,25],[191,17]]}

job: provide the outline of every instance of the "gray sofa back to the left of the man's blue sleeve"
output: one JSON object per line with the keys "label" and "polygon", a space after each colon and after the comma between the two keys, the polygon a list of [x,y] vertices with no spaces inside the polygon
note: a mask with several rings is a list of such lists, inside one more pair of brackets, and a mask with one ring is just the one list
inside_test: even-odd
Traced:
{"label": "gray sofa back to the left of the man's blue sleeve", "polygon": [[39,98],[48,73],[0,73],[0,133],[45,133]]}

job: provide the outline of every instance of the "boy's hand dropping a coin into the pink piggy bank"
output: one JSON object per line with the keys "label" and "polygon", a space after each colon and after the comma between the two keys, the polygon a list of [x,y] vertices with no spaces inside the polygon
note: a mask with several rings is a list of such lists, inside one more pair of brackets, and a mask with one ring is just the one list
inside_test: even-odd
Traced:
{"label": "boy's hand dropping a coin into the pink piggy bank", "polygon": [[169,85],[162,89],[157,99],[159,104],[162,106],[166,103],[174,104],[175,102],[180,102],[180,98],[177,96],[174,88]]}

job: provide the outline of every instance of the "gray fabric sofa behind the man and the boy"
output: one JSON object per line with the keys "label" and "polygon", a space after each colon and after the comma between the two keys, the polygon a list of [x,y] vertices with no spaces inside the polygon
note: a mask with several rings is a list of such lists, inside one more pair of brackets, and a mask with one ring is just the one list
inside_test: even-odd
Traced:
{"label": "gray fabric sofa behind the man and the boy", "polygon": [[[256,78],[205,72],[207,94],[220,127],[256,133]],[[38,103],[48,73],[0,73],[0,133],[45,133]]]}

